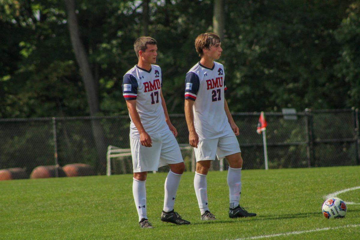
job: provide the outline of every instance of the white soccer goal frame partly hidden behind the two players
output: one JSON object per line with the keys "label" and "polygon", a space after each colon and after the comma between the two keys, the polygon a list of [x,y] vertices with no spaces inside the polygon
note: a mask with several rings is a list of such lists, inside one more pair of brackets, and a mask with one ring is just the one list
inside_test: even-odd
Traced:
{"label": "white soccer goal frame partly hidden behind the two players", "polygon": [[[193,150],[193,147],[189,144],[179,144],[180,150]],[[120,148],[115,147],[112,145],[108,146],[108,150],[106,152],[106,175],[111,175],[111,159],[114,157],[128,157],[131,156],[131,149],[130,148]],[[195,172],[196,170],[196,160],[195,160],[195,152],[192,151],[191,156],[191,171]],[[224,170],[224,159],[220,159],[220,171]],[[153,171],[153,173],[156,173],[156,171]]]}

